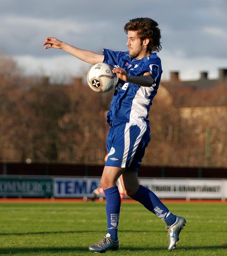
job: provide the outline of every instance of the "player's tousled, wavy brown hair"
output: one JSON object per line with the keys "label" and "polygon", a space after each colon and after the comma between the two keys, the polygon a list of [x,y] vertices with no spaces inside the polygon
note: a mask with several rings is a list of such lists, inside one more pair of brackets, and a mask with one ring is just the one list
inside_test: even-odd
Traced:
{"label": "player's tousled, wavy brown hair", "polygon": [[128,34],[128,31],[137,31],[137,36],[141,41],[148,38],[150,42],[148,44],[148,52],[159,52],[162,49],[160,45],[161,33],[158,28],[158,23],[150,18],[135,18],[129,20],[124,26],[124,31]]}

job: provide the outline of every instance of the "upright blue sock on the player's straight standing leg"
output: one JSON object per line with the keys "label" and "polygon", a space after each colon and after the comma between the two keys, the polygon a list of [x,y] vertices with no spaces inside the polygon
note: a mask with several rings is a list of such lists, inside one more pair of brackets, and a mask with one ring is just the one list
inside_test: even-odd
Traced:
{"label": "upright blue sock on the player's straight standing leg", "polygon": [[107,233],[111,239],[117,240],[117,228],[119,222],[121,197],[118,187],[104,189],[106,196]]}

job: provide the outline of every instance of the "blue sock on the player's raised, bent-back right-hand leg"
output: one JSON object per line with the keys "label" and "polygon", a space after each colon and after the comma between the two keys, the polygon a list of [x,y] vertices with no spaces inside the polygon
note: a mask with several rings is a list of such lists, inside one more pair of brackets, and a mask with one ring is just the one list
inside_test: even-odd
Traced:
{"label": "blue sock on the player's raised, bent-back right-hand leg", "polygon": [[145,208],[156,214],[160,219],[163,219],[168,226],[172,225],[177,219],[177,216],[168,210],[154,192],[142,185],[140,185],[133,199],[143,204]]}

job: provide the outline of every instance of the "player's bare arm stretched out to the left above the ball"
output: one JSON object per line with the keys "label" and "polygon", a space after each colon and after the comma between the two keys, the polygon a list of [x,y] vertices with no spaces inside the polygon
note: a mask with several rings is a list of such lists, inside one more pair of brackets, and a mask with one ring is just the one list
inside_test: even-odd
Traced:
{"label": "player's bare arm stretched out to the left above the ball", "polygon": [[75,46],[69,45],[54,37],[47,37],[45,42],[43,43],[43,46],[44,45],[47,45],[45,46],[44,49],[49,49],[49,48],[62,49],[65,52],[75,56],[76,58],[86,61],[87,63],[93,64],[93,65],[97,63],[101,63],[104,60],[104,56],[101,54],[76,48]]}

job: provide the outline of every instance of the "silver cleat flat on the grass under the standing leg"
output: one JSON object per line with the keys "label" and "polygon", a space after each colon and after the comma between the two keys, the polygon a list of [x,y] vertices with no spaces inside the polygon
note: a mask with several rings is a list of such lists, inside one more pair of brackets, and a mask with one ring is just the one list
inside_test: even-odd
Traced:
{"label": "silver cleat flat on the grass under the standing leg", "polygon": [[112,240],[110,234],[107,233],[102,240],[96,244],[91,245],[88,250],[96,253],[104,253],[107,250],[117,251],[118,247],[119,241]]}

